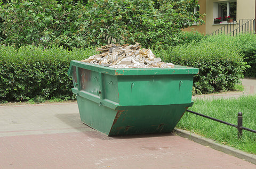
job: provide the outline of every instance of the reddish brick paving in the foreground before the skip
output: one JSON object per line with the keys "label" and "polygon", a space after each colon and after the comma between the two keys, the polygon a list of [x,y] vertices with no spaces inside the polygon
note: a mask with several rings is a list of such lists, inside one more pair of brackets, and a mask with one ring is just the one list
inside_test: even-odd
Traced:
{"label": "reddish brick paving in the foreground before the skip", "polygon": [[173,133],[98,131],[0,137],[0,168],[256,168]]}

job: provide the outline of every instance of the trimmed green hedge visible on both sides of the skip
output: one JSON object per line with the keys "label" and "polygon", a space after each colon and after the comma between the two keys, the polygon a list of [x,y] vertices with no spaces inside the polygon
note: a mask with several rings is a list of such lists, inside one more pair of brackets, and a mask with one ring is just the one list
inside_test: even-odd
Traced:
{"label": "trimmed green hedge visible on both sides of the skip", "polygon": [[[194,87],[203,93],[233,90],[247,67],[243,60],[243,51],[247,50],[243,44],[250,42],[246,43],[245,35],[242,36],[199,38],[195,43],[184,41],[183,45],[155,50],[154,53],[165,62],[198,67]],[[94,54],[94,48],[67,50],[53,46],[43,49],[30,45],[17,49],[0,46],[0,103],[74,99],[71,92],[73,84],[67,76],[70,61]]]}

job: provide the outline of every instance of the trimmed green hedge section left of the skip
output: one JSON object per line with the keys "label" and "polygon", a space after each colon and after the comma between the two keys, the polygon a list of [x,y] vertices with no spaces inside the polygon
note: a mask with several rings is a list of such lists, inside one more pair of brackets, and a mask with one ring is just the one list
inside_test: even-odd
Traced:
{"label": "trimmed green hedge section left of the skip", "polygon": [[95,49],[0,46],[0,103],[29,99],[72,99],[67,72],[71,60],[93,55]]}

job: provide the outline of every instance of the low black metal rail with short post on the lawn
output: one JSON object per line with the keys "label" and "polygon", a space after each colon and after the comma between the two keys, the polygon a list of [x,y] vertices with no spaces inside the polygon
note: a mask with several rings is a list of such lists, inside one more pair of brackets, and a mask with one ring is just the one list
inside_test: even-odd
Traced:
{"label": "low black metal rail with short post on the lawn", "polygon": [[243,114],[242,114],[242,112],[238,112],[238,115],[237,115],[237,125],[236,125],[236,124],[231,124],[231,123],[228,123],[228,122],[219,120],[219,119],[215,119],[215,118],[213,118],[213,117],[210,117],[210,116],[207,116],[207,115],[204,115],[204,114],[200,114],[200,113],[197,113],[197,112],[193,112],[193,111],[190,111],[190,110],[187,110],[187,112],[193,113],[193,114],[196,114],[196,115],[199,115],[199,116],[202,116],[202,117],[205,117],[205,118],[207,118],[207,119],[211,119],[211,120],[213,120],[213,121],[217,121],[217,122],[220,122],[220,123],[223,123],[223,124],[227,124],[227,125],[230,125],[230,126],[234,126],[235,128],[237,128],[237,136],[238,136],[238,138],[242,138],[242,136],[243,136],[243,130],[256,133],[256,130],[252,130],[252,129],[249,129],[249,128],[245,128],[245,127],[243,126],[243,116],[242,116]]}

